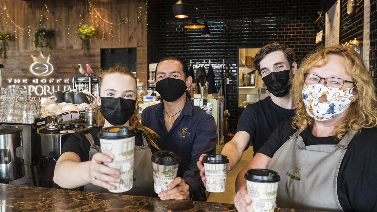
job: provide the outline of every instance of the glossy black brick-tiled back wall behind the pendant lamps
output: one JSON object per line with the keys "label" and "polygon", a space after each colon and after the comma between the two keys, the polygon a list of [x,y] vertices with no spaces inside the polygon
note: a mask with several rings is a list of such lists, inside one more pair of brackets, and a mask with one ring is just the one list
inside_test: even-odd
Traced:
{"label": "glossy black brick-tiled back wall behind the pendant lamps", "polygon": [[[319,28],[314,21],[323,4],[318,0],[187,0],[190,19],[175,18],[172,5],[176,0],[156,1],[156,58],[175,55],[189,65],[211,59],[211,63],[230,64],[232,78],[228,87],[230,132],[236,131],[237,111],[237,47],[262,47],[271,42],[284,43],[295,49],[297,60],[314,49]],[[195,8],[198,9],[195,9]],[[203,22],[204,14],[212,36],[201,37],[201,30],[185,29],[197,14]],[[215,70],[218,72],[218,70]],[[216,73],[218,82],[219,73]]]}

